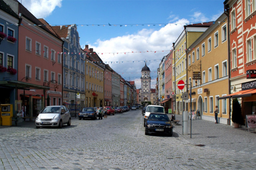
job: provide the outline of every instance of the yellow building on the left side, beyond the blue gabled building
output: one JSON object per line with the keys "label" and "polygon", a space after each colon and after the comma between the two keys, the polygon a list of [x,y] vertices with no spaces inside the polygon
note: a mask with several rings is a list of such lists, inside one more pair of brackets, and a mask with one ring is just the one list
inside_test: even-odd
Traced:
{"label": "yellow building on the left side, beyond the blue gabled building", "polygon": [[104,68],[99,56],[91,51],[85,60],[85,106],[104,105]]}

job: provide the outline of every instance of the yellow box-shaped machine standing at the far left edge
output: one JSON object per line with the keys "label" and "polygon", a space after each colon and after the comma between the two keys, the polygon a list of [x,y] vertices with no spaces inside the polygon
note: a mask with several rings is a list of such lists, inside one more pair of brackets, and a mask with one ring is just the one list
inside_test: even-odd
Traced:
{"label": "yellow box-shaped machine standing at the far left edge", "polygon": [[1,104],[2,126],[12,126],[13,105]]}

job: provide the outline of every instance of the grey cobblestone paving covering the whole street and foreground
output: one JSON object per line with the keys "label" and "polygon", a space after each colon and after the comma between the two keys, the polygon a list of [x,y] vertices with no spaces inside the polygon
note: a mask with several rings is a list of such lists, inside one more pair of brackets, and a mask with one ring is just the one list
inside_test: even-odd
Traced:
{"label": "grey cobblestone paving covering the whole street and foreground", "polygon": [[0,127],[0,170],[256,169],[256,133],[193,120],[191,136],[182,135],[182,122],[173,137],[145,136],[141,110],[72,118],[62,129],[23,122]]}

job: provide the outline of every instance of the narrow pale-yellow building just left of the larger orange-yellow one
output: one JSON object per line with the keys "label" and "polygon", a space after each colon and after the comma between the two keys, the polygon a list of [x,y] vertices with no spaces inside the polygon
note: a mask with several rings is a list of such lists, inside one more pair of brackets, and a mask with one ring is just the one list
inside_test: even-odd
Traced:
{"label": "narrow pale-yellow building just left of the larger orange-yellow one", "polygon": [[[174,60],[173,60],[173,91],[175,92],[174,113],[182,114],[182,93],[187,91],[187,87],[183,90],[178,89],[178,81],[183,80],[187,84],[187,47],[204,33],[211,26],[212,22],[192,24],[184,26],[184,30],[174,43]],[[183,110],[187,110],[187,105],[183,102]]]}

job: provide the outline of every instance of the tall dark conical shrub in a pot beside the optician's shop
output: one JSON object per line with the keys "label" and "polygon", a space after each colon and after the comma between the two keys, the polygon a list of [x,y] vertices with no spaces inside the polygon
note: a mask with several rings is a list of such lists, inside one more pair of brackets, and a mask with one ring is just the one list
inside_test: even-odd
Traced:
{"label": "tall dark conical shrub in a pot beside the optician's shop", "polygon": [[239,124],[243,124],[242,109],[237,98],[232,101],[232,122],[234,127],[239,127]]}

